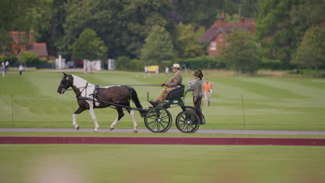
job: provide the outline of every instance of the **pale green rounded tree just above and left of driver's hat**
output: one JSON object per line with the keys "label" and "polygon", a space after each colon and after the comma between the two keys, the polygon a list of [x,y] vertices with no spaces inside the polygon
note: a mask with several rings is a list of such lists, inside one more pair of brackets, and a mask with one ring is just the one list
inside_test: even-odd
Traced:
{"label": "pale green rounded tree just above and left of driver's hat", "polygon": [[163,60],[171,60],[176,57],[172,37],[161,26],[153,26],[145,42],[141,49],[141,59],[145,62],[160,64]]}

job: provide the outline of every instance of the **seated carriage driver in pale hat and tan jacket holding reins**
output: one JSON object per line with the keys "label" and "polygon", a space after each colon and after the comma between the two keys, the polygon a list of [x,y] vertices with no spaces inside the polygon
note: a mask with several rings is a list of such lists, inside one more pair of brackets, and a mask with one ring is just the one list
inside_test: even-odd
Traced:
{"label": "seated carriage driver in pale hat and tan jacket holding reins", "polygon": [[177,89],[182,85],[182,74],[181,74],[181,66],[179,64],[173,64],[172,71],[174,73],[174,78],[169,83],[163,83],[161,84],[162,87],[167,87],[166,89],[161,89],[160,94],[158,95],[157,102],[163,102],[165,101],[165,98],[167,94]]}

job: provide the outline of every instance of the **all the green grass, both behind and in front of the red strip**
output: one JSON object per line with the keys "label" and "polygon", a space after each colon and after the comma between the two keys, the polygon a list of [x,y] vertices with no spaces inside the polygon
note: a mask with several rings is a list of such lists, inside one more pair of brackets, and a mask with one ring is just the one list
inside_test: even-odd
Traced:
{"label": "all the green grass, both behind and in front of the red strip", "polygon": [[[117,71],[87,77],[74,74],[100,85],[160,84],[166,79]],[[0,128],[73,128],[72,114],[77,109],[74,93],[56,92],[62,73],[28,71],[23,76],[8,73],[0,78]],[[192,79],[185,73],[183,76],[184,83]],[[207,124],[201,129],[325,130],[324,79],[217,77],[212,71],[205,76],[215,89],[212,106],[203,107]],[[142,105],[149,107],[146,92],[154,99],[160,87],[135,90]],[[186,98],[187,105],[192,105],[191,98]],[[117,117],[113,109],[95,112],[101,128],[108,128]],[[169,112],[174,121],[181,109],[174,107]],[[145,128],[139,114],[137,119],[139,128]],[[94,128],[88,112],[78,115],[77,121],[81,128]],[[133,128],[131,117],[126,114],[117,128]],[[172,128],[176,128],[174,124]],[[0,136],[324,138],[85,132],[0,132]],[[2,144],[0,182],[324,182],[324,150],[316,146]]]}

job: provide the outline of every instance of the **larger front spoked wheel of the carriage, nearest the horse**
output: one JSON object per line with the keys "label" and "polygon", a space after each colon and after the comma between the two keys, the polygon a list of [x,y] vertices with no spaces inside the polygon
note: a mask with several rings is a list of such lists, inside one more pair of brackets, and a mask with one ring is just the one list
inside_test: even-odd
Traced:
{"label": "larger front spoked wheel of the carriage, nearest the horse", "polygon": [[167,132],[172,125],[172,115],[163,107],[149,110],[144,124],[151,132]]}

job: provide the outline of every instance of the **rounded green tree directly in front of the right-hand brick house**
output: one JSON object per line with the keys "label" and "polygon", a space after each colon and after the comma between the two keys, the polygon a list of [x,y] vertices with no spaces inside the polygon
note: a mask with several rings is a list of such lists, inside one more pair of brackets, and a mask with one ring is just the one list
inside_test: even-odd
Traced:
{"label": "rounded green tree directly in front of the right-hand brick house", "polygon": [[242,73],[254,73],[258,70],[260,57],[253,35],[247,30],[233,28],[226,35],[226,44],[220,55],[235,71]]}

